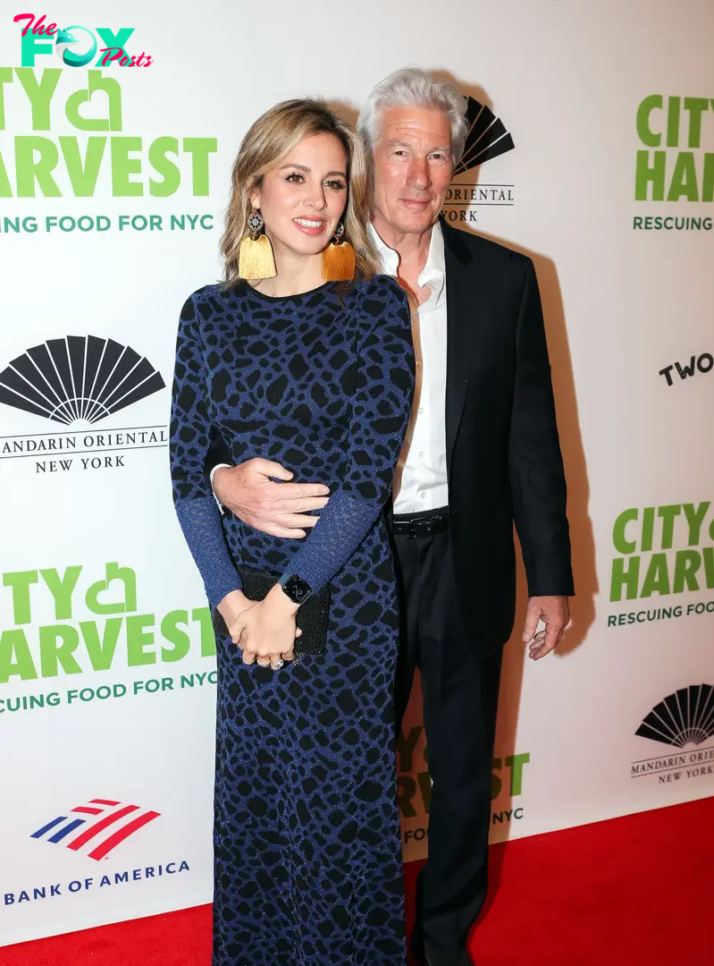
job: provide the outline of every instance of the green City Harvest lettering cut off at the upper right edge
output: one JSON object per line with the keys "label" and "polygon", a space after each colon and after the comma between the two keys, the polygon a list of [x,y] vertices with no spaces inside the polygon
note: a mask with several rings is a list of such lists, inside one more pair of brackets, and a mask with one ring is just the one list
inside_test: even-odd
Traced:
{"label": "green City Harvest lettering cut off at the upper right edge", "polygon": [[714,98],[650,94],[642,101],[636,201],[714,201],[714,152],[700,150],[702,131],[714,144]]}

